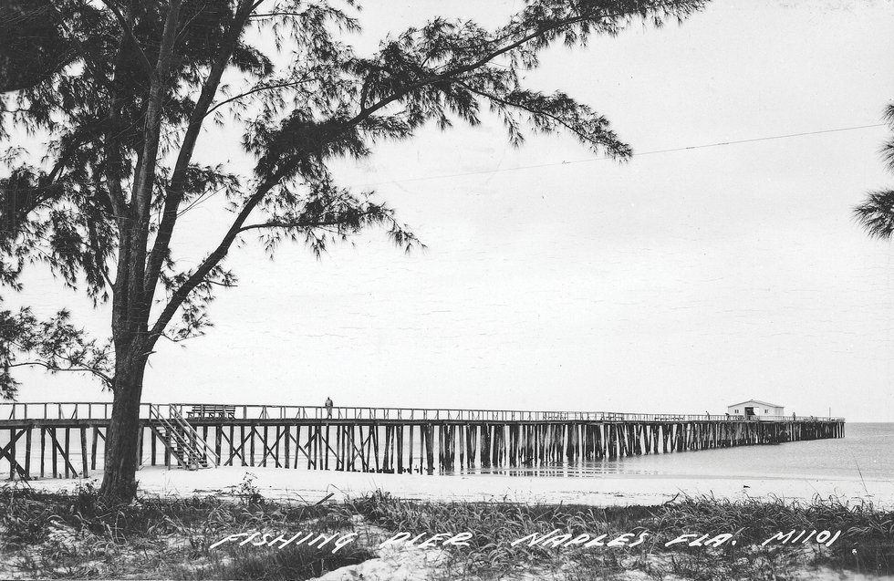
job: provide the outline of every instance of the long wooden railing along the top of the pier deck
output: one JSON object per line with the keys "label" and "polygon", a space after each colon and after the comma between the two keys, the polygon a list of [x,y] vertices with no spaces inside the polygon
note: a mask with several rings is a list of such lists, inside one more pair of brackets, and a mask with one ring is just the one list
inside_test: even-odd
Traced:
{"label": "long wooden railing along the top of the pier deck", "polygon": [[[743,416],[729,414],[622,413],[616,411],[460,410],[427,408],[370,408],[272,406],[243,404],[140,404],[140,418],[149,420],[155,406],[168,417],[216,417],[229,420],[454,420],[454,421],[844,421],[820,416]],[[0,420],[108,420],[111,403],[104,401],[0,402]],[[213,415],[207,413],[215,410]]]}

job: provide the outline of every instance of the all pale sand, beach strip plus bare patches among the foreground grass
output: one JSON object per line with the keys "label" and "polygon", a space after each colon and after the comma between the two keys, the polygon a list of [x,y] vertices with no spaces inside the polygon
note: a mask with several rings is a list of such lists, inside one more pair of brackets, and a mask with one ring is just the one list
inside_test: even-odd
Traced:
{"label": "all pale sand, beach strip plus bare patches among the foreground grass", "polygon": [[[96,474],[99,476],[99,472]],[[442,476],[262,467],[224,467],[192,472],[146,467],[138,472],[137,477],[142,493],[162,496],[213,494],[233,498],[244,492],[245,482],[251,482],[251,490],[256,490],[265,498],[299,503],[317,503],[324,500],[338,502],[382,491],[404,499],[424,501],[509,501],[594,506],[655,505],[686,495],[709,495],[717,499],[730,500],[781,498],[790,502],[808,502],[816,496],[823,498],[834,496],[842,503],[869,501],[878,508],[894,507],[894,482],[878,480],[855,482],[822,478],[759,479],[626,474],[587,477],[526,477],[494,474]],[[78,484],[86,482],[99,486],[99,478],[36,480],[30,482],[30,485],[49,491],[62,491],[72,490]],[[446,554],[441,549],[422,550],[419,547],[403,545],[374,546],[373,553],[375,554],[373,558],[331,571],[320,577],[320,581],[350,581],[358,578],[369,581],[390,579],[423,581],[429,578],[450,578],[450,573],[444,565],[447,562]],[[544,577],[540,572],[533,571],[518,572],[517,575],[513,574],[507,578],[516,581],[534,581]],[[651,577],[634,568],[621,571],[612,578],[619,581],[645,581]],[[791,578],[832,581],[868,577],[855,575],[852,572],[843,575],[827,567],[819,569],[807,567],[794,571]]]}

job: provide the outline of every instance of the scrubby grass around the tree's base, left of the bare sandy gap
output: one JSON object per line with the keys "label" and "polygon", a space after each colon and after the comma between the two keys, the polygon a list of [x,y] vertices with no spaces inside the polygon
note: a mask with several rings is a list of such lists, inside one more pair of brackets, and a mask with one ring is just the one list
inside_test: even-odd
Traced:
{"label": "scrubby grass around the tree's base, left of the bare sandy gap", "polygon": [[228,534],[353,528],[338,506],[266,503],[251,482],[226,500],[142,496],[119,507],[102,506],[92,487],[57,494],[7,486],[0,578],[311,579],[373,555],[357,544],[335,555],[307,545],[209,547]]}

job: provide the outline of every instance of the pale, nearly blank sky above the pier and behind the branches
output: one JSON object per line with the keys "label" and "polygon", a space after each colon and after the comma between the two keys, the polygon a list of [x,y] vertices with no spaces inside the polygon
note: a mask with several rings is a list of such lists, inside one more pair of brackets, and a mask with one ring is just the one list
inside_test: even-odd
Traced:
{"label": "pale, nearly blank sky above the pier and behind the branches", "polygon": [[[521,5],[367,3],[354,40],[437,15],[493,26]],[[890,1],[717,0],[680,26],[552,48],[525,82],[597,109],[635,157],[567,135],[514,149],[485,116],[339,162],[338,182],[375,189],[426,250],[369,232],[270,260],[247,240],[215,327],[158,346],[143,400],[722,413],[754,398],[894,421],[892,248],[852,217],[894,187],[878,153],[892,29]],[[213,131],[204,159],[237,160],[238,135]],[[214,201],[187,217],[183,264],[223,226]],[[26,282],[8,302],[68,306],[108,335],[108,307]],[[110,399],[20,378],[23,401]]]}

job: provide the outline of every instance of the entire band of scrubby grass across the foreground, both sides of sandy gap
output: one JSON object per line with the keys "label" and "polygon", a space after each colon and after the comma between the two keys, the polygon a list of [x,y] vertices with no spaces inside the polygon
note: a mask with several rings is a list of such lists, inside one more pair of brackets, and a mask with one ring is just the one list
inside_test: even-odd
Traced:
{"label": "entire band of scrubby grass across the foreground, both sides of sandy gap", "polygon": [[[830,546],[764,545],[778,532],[814,529],[841,533]],[[210,548],[228,534],[255,531],[359,536],[335,554],[331,545],[277,549],[230,542]],[[868,503],[689,498],[663,506],[599,509],[421,503],[374,493],[344,503],[310,505],[265,502],[247,481],[226,499],[143,496],[115,508],[99,504],[90,487],[57,494],[5,486],[0,488],[0,577],[309,579],[376,557],[381,541],[392,534],[409,532],[425,540],[428,535],[466,531],[472,533],[465,540],[468,545],[443,547],[446,557],[418,571],[418,578],[814,578],[817,567],[845,576],[894,574],[894,513]],[[627,545],[639,543],[531,546],[525,540],[511,545],[551,532],[556,540],[562,534],[569,539],[606,534],[605,543],[628,534],[623,537]],[[666,546],[681,534],[733,536],[718,546],[703,546],[704,538],[702,546],[690,546],[695,536]]]}

